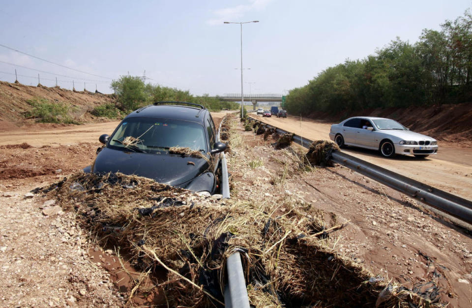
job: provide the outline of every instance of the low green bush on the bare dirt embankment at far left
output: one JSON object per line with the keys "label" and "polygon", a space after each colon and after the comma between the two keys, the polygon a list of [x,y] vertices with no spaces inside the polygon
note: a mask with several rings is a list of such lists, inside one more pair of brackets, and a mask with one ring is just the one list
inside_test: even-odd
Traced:
{"label": "low green bush on the bare dirt embankment at far left", "polygon": [[26,101],[32,110],[25,113],[27,118],[36,118],[40,123],[79,124],[67,114],[67,106],[62,103],[50,103],[45,98],[34,98]]}

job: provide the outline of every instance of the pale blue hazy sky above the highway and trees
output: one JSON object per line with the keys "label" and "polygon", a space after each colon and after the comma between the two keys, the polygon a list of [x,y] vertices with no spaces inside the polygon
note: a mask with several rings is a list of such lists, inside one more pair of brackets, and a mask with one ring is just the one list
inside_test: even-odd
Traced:
{"label": "pale blue hazy sky above the highway and trees", "polygon": [[[1,0],[0,44],[102,77],[146,70],[148,82],[221,95],[241,90],[240,27],[223,21],[259,20],[243,25],[243,67],[251,68],[244,82],[252,93],[281,94],[326,67],[374,54],[396,36],[413,43],[422,29],[439,30],[469,7],[471,0]],[[15,68],[24,76],[53,73],[39,73],[45,86],[60,74],[73,77],[57,76],[63,88],[74,80],[76,90],[85,81],[89,91],[97,84],[112,92],[110,79],[0,46],[0,80],[13,82]]]}

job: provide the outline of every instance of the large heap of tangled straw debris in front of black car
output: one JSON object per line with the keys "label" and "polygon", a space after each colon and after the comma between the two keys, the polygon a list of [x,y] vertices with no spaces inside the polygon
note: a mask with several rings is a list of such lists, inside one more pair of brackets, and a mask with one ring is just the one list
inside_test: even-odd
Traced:
{"label": "large heap of tangled straw debris in front of black car", "polygon": [[[75,211],[90,238],[121,247],[140,275],[165,289],[169,307],[222,307],[226,258],[235,249],[245,256],[257,307],[374,306],[386,287],[364,283],[373,275],[329,248],[330,232],[345,224],[326,225],[324,212],[294,197],[217,201],[142,177],[82,172],[39,191]],[[136,283],[133,292],[148,291]],[[392,286],[382,307],[418,302],[397,290]]]}

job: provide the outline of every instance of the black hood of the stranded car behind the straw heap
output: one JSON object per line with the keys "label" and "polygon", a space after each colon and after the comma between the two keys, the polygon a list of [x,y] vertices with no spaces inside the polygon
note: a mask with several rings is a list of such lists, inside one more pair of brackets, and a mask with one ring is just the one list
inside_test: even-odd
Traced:
{"label": "black hood of the stranded car behind the straw heap", "polygon": [[124,152],[109,148],[100,151],[91,166],[91,171],[94,173],[121,172],[171,186],[186,183],[207,169],[208,163],[203,158],[166,153]]}

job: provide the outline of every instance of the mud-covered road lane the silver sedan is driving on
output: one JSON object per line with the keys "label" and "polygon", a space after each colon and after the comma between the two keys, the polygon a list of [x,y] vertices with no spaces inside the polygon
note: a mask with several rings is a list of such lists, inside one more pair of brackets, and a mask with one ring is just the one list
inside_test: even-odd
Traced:
{"label": "mud-covered road lane the silver sedan is driving on", "polygon": [[[331,123],[289,116],[283,118],[251,117],[281,129],[311,139],[329,140]],[[301,127],[301,129],[300,129]],[[432,185],[463,198],[472,199],[472,148],[460,148],[452,143],[439,142],[439,152],[427,159],[418,160],[413,156],[397,156],[386,159],[377,151],[350,147],[343,150],[350,155],[366,160],[416,181]]]}

